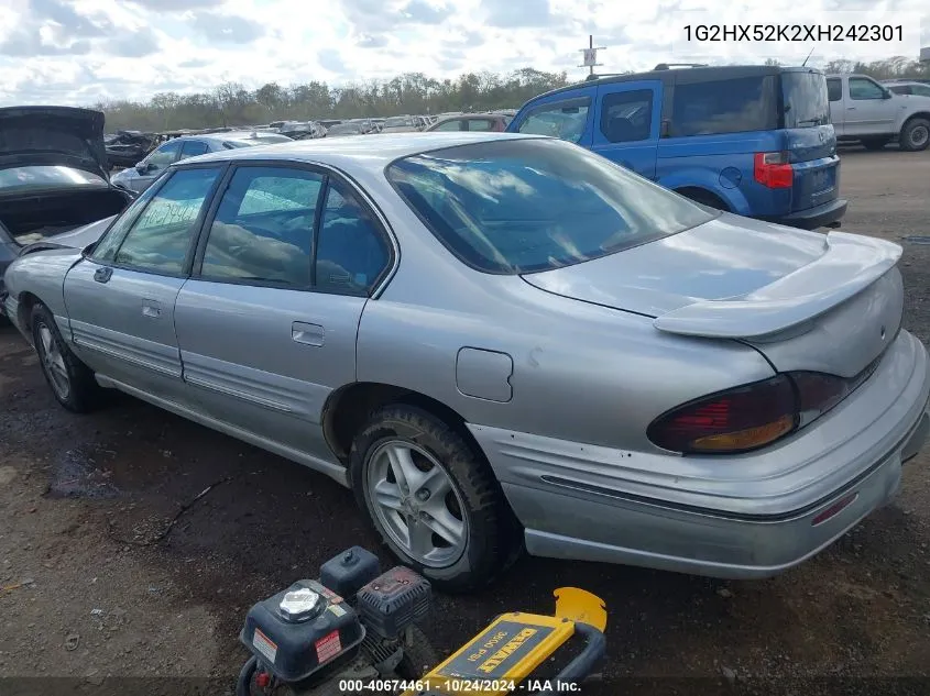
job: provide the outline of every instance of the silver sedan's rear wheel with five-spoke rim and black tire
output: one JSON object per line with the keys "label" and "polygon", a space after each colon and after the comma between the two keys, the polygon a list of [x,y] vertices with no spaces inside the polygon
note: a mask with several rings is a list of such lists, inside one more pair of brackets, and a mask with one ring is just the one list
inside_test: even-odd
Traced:
{"label": "silver sedan's rear wheel with five-spoke rim and black tire", "polygon": [[375,410],[352,442],[349,467],[368,522],[434,586],[477,589],[516,560],[519,528],[491,467],[433,413],[407,405]]}

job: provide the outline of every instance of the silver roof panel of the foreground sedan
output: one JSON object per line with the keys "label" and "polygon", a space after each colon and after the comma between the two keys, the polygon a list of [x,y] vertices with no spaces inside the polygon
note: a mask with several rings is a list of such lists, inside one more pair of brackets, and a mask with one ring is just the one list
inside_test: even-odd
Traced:
{"label": "silver roof panel of the foreground sedan", "polygon": [[495,140],[533,140],[539,135],[521,133],[485,133],[450,131],[431,133],[382,133],[376,137],[299,140],[293,143],[274,143],[241,150],[208,153],[183,159],[175,165],[183,167],[188,163],[207,162],[248,162],[250,159],[282,162],[307,162],[325,164],[347,172],[380,172],[385,166],[402,157],[418,155],[434,150],[444,150],[457,145],[469,145]]}

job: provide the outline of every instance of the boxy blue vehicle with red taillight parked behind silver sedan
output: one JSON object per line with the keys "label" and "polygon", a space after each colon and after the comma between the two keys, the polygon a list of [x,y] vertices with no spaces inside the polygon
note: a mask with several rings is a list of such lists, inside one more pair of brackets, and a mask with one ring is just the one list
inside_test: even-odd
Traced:
{"label": "boxy blue vehicle with red taillight parked behind silver sedan", "polygon": [[589,79],[507,126],[571,141],[698,202],[796,228],[839,227],[840,157],[813,68],[668,68]]}

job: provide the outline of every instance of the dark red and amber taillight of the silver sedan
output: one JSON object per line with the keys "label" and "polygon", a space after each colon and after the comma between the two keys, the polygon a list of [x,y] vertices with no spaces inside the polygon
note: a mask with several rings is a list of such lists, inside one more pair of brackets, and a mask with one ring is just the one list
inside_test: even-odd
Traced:
{"label": "dark red and amber taillight of the silver sedan", "polygon": [[679,406],[654,420],[646,434],[654,444],[685,454],[748,452],[823,416],[862,382],[784,373]]}

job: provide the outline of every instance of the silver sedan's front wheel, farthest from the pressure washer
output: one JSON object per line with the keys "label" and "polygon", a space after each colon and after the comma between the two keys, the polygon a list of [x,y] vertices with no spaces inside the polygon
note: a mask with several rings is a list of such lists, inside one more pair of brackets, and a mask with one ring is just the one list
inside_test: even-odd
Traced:
{"label": "silver sedan's front wheel, farthest from the pressure washer", "polygon": [[32,338],[45,382],[58,404],[75,413],[87,413],[100,404],[101,387],[91,369],[72,353],[55,317],[39,302],[32,309]]}

